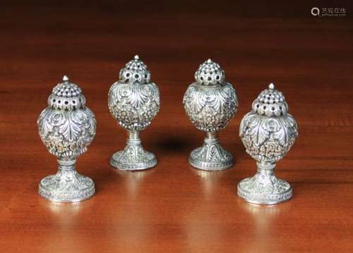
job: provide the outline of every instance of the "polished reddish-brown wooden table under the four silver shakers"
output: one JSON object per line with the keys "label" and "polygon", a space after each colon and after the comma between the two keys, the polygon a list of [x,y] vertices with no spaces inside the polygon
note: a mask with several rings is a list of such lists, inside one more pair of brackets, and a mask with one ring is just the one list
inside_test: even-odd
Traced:
{"label": "polished reddish-brown wooden table under the four silver shakers", "polygon": [[[1,252],[352,252],[352,19],[110,7],[1,8]],[[134,54],[160,87],[161,111],[141,134],[159,163],[126,173],[109,166],[126,132],[109,115],[107,92]],[[220,132],[235,165],[221,172],[187,162],[203,134],[181,101],[207,58],[220,63],[239,96],[237,115]],[[97,193],[78,204],[37,194],[56,159],[36,121],[64,74],[83,88],[97,118],[95,140],[78,159]],[[299,124],[276,168],[294,197],[258,206],[237,197],[237,183],[256,168],[238,131],[269,82]]]}

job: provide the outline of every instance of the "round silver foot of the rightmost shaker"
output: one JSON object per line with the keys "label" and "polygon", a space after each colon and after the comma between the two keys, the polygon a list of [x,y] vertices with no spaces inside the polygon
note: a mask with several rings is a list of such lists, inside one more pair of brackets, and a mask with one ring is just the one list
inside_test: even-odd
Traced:
{"label": "round silver foot of the rightmost shaker", "polygon": [[253,204],[278,204],[286,202],[292,195],[292,187],[285,180],[277,179],[273,185],[263,185],[253,178],[241,180],[238,184],[238,196]]}

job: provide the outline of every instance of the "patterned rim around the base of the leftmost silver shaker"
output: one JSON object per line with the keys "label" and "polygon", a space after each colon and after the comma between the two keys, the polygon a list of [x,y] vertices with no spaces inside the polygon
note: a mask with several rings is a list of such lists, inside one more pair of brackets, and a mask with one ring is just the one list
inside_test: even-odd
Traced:
{"label": "patterned rim around the base of the leftmost silver shaker", "polygon": [[[48,175],[45,178],[53,177],[55,175]],[[83,176],[83,175],[80,175]],[[43,180],[45,179],[43,178]],[[48,187],[45,187],[42,185],[42,180],[39,184],[39,189],[38,192],[39,194],[44,197],[45,199],[49,199],[52,202],[80,202],[85,199],[89,199],[93,195],[95,195],[95,183],[93,183],[93,180],[91,180],[88,177],[85,177],[86,179],[89,179],[91,184],[88,185],[88,187],[82,189],[82,190],[76,190],[74,192],[62,192],[56,189],[49,189]]]}

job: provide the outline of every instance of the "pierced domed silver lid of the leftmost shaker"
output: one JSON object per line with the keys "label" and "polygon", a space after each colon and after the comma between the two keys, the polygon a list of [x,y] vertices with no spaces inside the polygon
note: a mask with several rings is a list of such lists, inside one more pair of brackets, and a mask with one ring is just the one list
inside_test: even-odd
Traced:
{"label": "pierced domed silver lid of the leftmost shaker", "polygon": [[59,82],[48,98],[48,105],[54,109],[73,110],[85,106],[85,97],[82,90],[64,75],[63,81]]}

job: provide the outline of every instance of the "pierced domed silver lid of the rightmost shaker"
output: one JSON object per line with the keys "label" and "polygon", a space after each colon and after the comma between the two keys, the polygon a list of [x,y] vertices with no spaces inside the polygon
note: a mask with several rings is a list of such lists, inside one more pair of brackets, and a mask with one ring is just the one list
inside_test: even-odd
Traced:
{"label": "pierced domed silver lid of the rightmost shaker", "polygon": [[253,101],[253,111],[260,115],[281,116],[288,111],[288,104],[282,92],[275,90],[275,85],[270,83],[268,89],[263,90]]}

